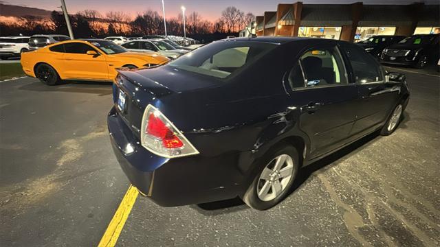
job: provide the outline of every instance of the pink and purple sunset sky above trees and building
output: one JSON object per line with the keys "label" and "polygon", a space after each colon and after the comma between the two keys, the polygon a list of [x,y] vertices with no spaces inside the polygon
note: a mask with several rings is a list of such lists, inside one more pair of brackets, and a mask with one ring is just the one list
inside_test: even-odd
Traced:
{"label": "pink and purple sunset sky above trees and building", "polygon": [[[181,12],[181,5],[186,7],[186,12],[196,11],[203,19],[215,21],[219,19],[221,10],[233,5],[244,12],[252,12],[255,15],[262,15],[265,11],[276,10],[278,3],[293,3],[285,0],[164,0],[166,16],[177,16]],[[359,1],[359,0],[358,0]],[[413,3],[417,0],[365,0],[368,4],[398,4]],[[108,11],[123,11],[131,16],[144,10],[156,10],[162,15],[161,0],[65,0],[67,10],[75,13],[80,10],[98,10],[102,14]],[[303,3],[353,3],[355,0],[303,0]],[[436,3],[437,0],[427,0],[425,3]],[[14,5],[26,5],[28,7],[42,8],[45,10],[56,10],[60,6],[60,0],[5,0],[3,3]]]}

